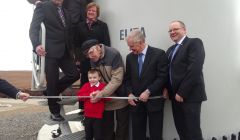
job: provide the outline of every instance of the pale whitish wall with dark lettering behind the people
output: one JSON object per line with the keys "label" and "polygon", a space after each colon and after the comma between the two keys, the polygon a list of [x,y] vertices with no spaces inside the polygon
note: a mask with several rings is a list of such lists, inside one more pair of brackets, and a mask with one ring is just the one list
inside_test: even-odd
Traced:
{"label": "pale whitish wall with dark lettering behind the people", "polygon": [[[189,37],[203,40],[204,77],[208,100],[202,105],[205,139],[240,130],[240,2],[239,0],[97,0],[107,22],[112,46],[129,53],[120,34],[144,28],[147,43],[164,50],[172,44],[168,24],[182,20]],[[124,30],[121,31],[121,30]],[[166,102],[164,138],[177,137],[171,107]]]}

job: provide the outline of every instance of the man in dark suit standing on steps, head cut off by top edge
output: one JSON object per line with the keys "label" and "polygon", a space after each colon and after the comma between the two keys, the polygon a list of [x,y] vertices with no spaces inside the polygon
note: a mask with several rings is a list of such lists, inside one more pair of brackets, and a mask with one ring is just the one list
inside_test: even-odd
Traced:
{"label": "man in dark suit standing on steps, head cut off by top edge", "polygon": [[[47,90],[44,94],[58,96],[60,92],[79,79],[77,68],[73,61],[71,47],[71,20],[68,12],[62,8],[63,0],[50,0],[39,3],[34,11],[30,39],[34,51],[39,56],[45,56],[45,72]],[[40,24],[46,27],[45,48],[39,41]],[[59,68],[64,76],[59,79]],[[48,99],[51,119],[62,121],[60,105],[57,99]]]}

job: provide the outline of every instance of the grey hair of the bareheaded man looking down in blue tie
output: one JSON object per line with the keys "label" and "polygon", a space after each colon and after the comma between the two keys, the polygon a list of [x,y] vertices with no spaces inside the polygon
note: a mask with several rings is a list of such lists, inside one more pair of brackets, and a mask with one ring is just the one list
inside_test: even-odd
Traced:
{"label": "grey hair of the bareheaded man looking down in blue tie", "polygon": [[132,39],[134,43],[145,42],[145,36],[139,29],[132,30],[126,40]]}

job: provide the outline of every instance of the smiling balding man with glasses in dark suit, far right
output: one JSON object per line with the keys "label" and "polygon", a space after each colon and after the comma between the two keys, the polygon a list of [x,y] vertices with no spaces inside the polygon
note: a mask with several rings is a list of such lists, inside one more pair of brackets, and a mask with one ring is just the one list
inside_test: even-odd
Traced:
{"label": "smiling balding man with glasses in dark suit, far right", "polygon": [[169,25],[176,44],[167,50],[169,59],[168,93],[172,100],[175,126],[181,140],[202,140],[200,112],[207,100],[203,79],[205,52],[198,38],[188,38],[182,21]]}

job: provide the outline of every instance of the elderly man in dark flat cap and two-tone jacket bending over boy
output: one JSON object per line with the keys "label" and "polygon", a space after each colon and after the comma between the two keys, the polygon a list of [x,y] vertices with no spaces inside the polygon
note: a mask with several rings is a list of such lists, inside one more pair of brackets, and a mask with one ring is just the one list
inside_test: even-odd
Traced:
{"label": "elderly man in dark flat cap and two-tone jacket bending over boy", "polygon": [[[103,90],[91,95],[92,102],[97,102],[99,97],[117,96],[116,90],[122,84],[124,75],[124,64],[120,53],[112,47],[99,44],[96,39],[85,41],[82,50],[90,59],[91,67],[100,70],[103,82],[107,84]],[[116,118],[116,126],[114,118]],[[104,140],[128,140],[129,112],[126,100],[114,99],[107,102],[103,120]]]}

